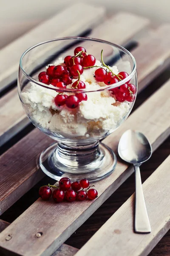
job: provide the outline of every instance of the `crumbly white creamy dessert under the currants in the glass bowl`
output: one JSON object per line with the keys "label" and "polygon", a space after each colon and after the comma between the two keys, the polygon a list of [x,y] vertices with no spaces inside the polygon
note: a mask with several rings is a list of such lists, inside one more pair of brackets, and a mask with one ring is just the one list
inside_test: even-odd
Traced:
{"label": "crumbly white creamy dessert under the currants in the glass bowl", "polygon": [[[61,64],[59,59],[54,65]],[[96,65],[101,66],[99,61]],[[98,67],[84,70],[81,81],[85,82],[89,90],[101,88],[103,83],[97,83],[94,72]],[[112,67],[114,73],[117,68]],[[73,82],[76,79],[73,79]],[[71,85],[67,87],[71,88]],[[66,93],[70,94],[70,93]],[[51,132],[58,132],[66,137],[91,137],[100,136],[115,129],[116,125],[127,114],[130,108],[129,102],[116,102],[109,90],[87,93],[88,100],[79,103],[75,109],[67,108],[66,105],[58,107],[54,103],[57,92],[44,88],[38,84],[31,83],[31,86],[22,93],[22,101],[26,104],[29,116],[34,123]]]}

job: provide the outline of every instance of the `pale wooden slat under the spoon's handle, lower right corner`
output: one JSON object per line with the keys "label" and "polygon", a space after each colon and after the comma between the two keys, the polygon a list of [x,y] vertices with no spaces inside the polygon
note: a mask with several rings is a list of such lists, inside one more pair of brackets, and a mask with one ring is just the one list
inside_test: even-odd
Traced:
{"label": "pale wooden slat under the spoon's handle, lower right corner", "polygon": [[133,232],[134,194],[79,250],[76,256],[147,256],[170,229],[170,156],[144,182],[151,233]]}

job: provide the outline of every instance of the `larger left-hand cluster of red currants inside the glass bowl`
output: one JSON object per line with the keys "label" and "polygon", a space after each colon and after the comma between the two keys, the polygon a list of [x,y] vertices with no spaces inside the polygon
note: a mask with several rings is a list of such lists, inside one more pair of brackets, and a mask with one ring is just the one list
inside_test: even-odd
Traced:
{"label": "larger left-hand cluster of red currants inside the glass bowl", "polygon": [[[64,65],[49,66],[47,72],[41,72],[38,76],[40,82],[52,84],[59,88],[66,88],[72,83],[72,79],[77,79],[72,84],[73,89],[85,89],[85,83],[80,81],[83,67],[93,66],[96,59],[93,55],[88,55],[84,47],[74,49],[74,56],[68,55],[64,58]],[[75,95],[63,95],[58,93],[54,102],[58,106],[66,105],[68,108],[77,108],[79,102],[87,100],[86,93],[76,93]]]}

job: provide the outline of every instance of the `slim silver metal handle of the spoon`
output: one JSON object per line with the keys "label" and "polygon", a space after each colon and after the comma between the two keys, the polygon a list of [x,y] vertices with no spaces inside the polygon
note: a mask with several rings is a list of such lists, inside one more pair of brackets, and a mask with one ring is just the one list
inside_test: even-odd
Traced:
{"label": "slim silver metal handle of the spoon", "polygon": [[142,190],[142,181],[140,169],[138,165],[134,165],[136,193],[135,193],[135,232],[136,233],[150,233],[150,222],[147,215],[147,209],[144,202],[144,195]]}

